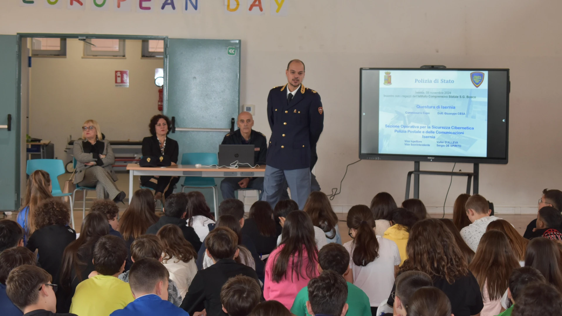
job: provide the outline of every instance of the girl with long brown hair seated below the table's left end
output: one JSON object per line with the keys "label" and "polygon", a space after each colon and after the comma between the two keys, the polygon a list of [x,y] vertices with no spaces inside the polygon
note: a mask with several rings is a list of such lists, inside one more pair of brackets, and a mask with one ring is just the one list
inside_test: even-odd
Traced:
{"label": "girl with long brown hair seated below the table's left end", "polygon": [[127,247],[128,269],[133,262],[131,261],[131,244],[137,237],[144,234],[148,227],[158,222],[158,215],[155,213],[156,205],[154,195],[150,189],[139,189],[133,194],[129,206],[119,220],[119,232],[125,240]]}

